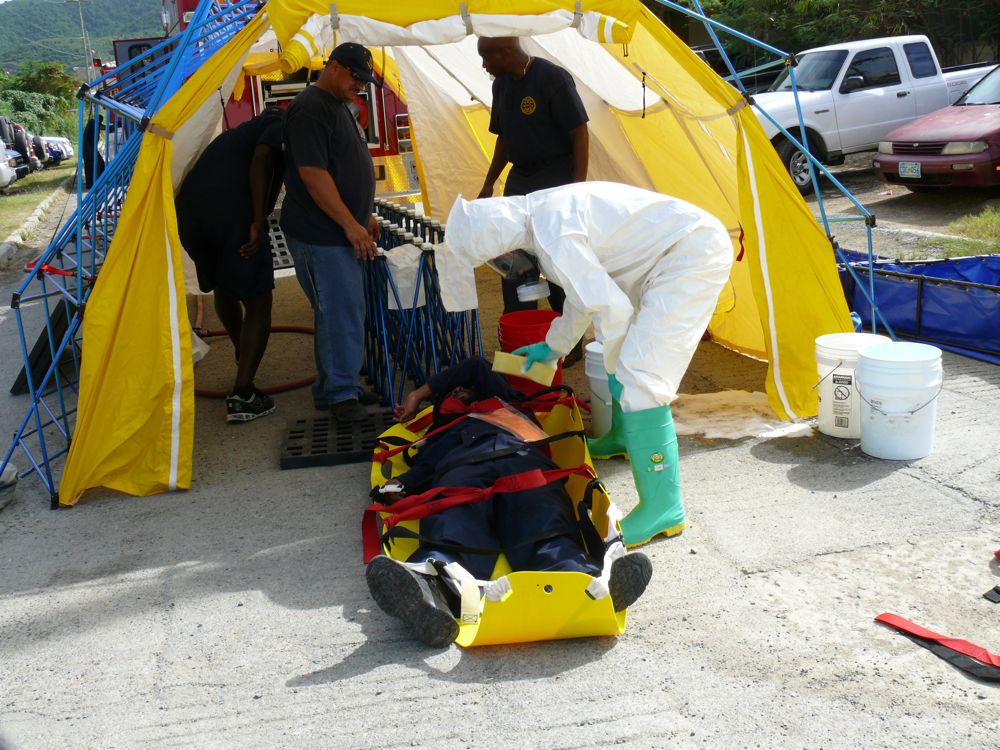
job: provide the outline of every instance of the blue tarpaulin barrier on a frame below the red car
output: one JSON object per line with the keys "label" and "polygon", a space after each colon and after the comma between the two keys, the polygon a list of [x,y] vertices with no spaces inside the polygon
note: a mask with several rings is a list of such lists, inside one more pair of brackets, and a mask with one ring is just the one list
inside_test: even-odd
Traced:
{"label": "blue tarpaulin barrier on a frame below the red car", "polygon": [[[844,254],[867,291],[867,256]],[[874,273],[875,303],[899,338],[1000,364],[1000,256],[876,260]],[[840,280],[848,306],[870,328],[871,305],[844,266]]]}

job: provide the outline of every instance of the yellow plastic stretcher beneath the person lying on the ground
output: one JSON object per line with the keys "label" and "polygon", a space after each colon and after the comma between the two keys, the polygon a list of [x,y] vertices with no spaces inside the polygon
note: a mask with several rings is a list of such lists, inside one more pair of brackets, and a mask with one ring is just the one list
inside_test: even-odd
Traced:
{"label": "yellow plastic stretcher beneath the person lying on the ground", "polygon": [[[549,435],[559,435],[570,431],[583,433],[583,420],[575,398],[554,399],[551,404],[532,401],[542,429]],[[388,450],[405,441],[419,440],[426,428],[413,431],[410,425],[420,427],[430,420],[430,407],[421,412],[409,425],[391,427],[380,436],[379,449]],[[578,513],[580,501],[587,494],[591,498],[590,517],[597,534],[604,541],[615,540],[619,534],[618,521],[621,514],[611,502],[604,486],[596,478],[593,463],[587,451],[587,441],[582,437],[571,437],[550,444],[552,460],[561,468],[587,467],[591,477],[571,475],[566,482],[566,490],[573,499],[574,512]],[[415,450],[415,449],[414,449]],[[378,449],[376,450],[376,456]],[[408,469],[403,453],[397,453],[384,461],[372,462],[372,487],[381,487],[386,480],[402,474]],[[384,519],[384,513],[378,514]],[[613,531],[611,530],[611,519]],[[579,519],[578,519],[579,520]],[[374,515],[366,516],[366,523],[375,523]],[[417,530],[419,521],[402,521],[400,526]],[[370,531],[370,530],[367,530]],[[609,534],[610,531],[610,534]],[[612,542],[612,545],[618,541]],[[383,552],[397,560],[405,561],[417,548],[418,541],[411,538],[397,538]],[[622,550],[624,551],[624,550]],[[613,554],[613,553],[612,553]],[[608,558],[605,557],[606,566]],[[501,643],[523,643],[545,641],[558,638],[579,638],[581,636],[620,635],[625,632],[625,611],[615,612],[610,596],[593,599],[587,588],[594,579],[578,572],[511,572],[506,558],[501,555],[493,570],[491,580],[506,576],[510,590],[500,601],[483,597],[482,613],[475,622],[459,623],[456,642],[460,646],[489,646]]]}

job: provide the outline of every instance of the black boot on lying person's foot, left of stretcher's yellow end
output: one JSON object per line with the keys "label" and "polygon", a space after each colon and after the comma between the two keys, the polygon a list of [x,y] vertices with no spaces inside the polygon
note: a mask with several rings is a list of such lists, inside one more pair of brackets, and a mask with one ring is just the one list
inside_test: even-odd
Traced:
{"label": "black boot on lying person's foot, left of stretcher's yellow end", "polygon": [[436,576],[417,573],[379,555],[365,570],[368,590],[375,603],[390,617],[406,623],[417,640],[433,648],[444,648],[458,638],[458,621],[452,616]]}

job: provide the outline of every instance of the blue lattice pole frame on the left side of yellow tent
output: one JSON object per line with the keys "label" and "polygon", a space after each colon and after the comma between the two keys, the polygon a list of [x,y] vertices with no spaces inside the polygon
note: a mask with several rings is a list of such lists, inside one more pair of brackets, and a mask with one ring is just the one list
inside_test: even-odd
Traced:
{"label": "blue lattice pole frame on the left side of yellow tent", "polygon": [[[77,347],[83,311],[112,242],[142,143],[143,120],[158,111],[183,80],[244,28],[261,7],[258,0],[242,0],[221,7],[217,2],[203,0],[184,33],[153,48],[157,55],[150,56],[147,51],[78,92],[81,100],[77,111],[78,154],[81,160],[88,155],[82,135],[87,107],[91,106],[98,132],[89,144],[89,155],[96,157],[100,140],[104,144],[107,165],[89,189],[84,184],[82,171],[77,175],[76,209],[33,267],[26,269],[32,273],[14,293],[11,307],[17,318],[29,404],[0,463],[0,470],[5,469],[13,454],[22,452],[29,466],[19,471],[18,476],[37,474],[49,492],[52,507],[58,507],[58,480],[53,462],[69,450],[70,417],[77,411],[74,403],[79,397]],[[98,129],[102,114],[105,122]],[[57,297],[58,303],[49,305],[49,296]],[[42,300],[41,305],[27,304],[37,299]],[[56,330],[49,320],[60,306],[67,310],[65,333]],[[26,327],[29,321],[25,314],[31,310],[37,310],[46,318],[39,344],[47,344],[45,353],[51,361],[44,374],[39,374],[38,363],[33,358],[35,351],[28,347]],[[60,369],[68,370],[70,366],[73,369],[70,375]],[[50,446],[54,439],[62,441],[62,447]]]}

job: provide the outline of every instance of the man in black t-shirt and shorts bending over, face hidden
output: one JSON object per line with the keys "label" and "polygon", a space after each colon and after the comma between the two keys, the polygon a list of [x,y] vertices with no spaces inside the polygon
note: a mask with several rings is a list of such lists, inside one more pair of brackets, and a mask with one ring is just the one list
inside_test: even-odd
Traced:
{"label": "man in black t-shirt and shorts bending over, face hidden", "polygon": [[267,217],[281,190],[281,110],[271,107],[208,144],[177,194],[181,244],[213,292],[215,311],[236,349],[236,380],[226,420],[249,422],[274,411],[254,387],[271,333],[274,264]]}

